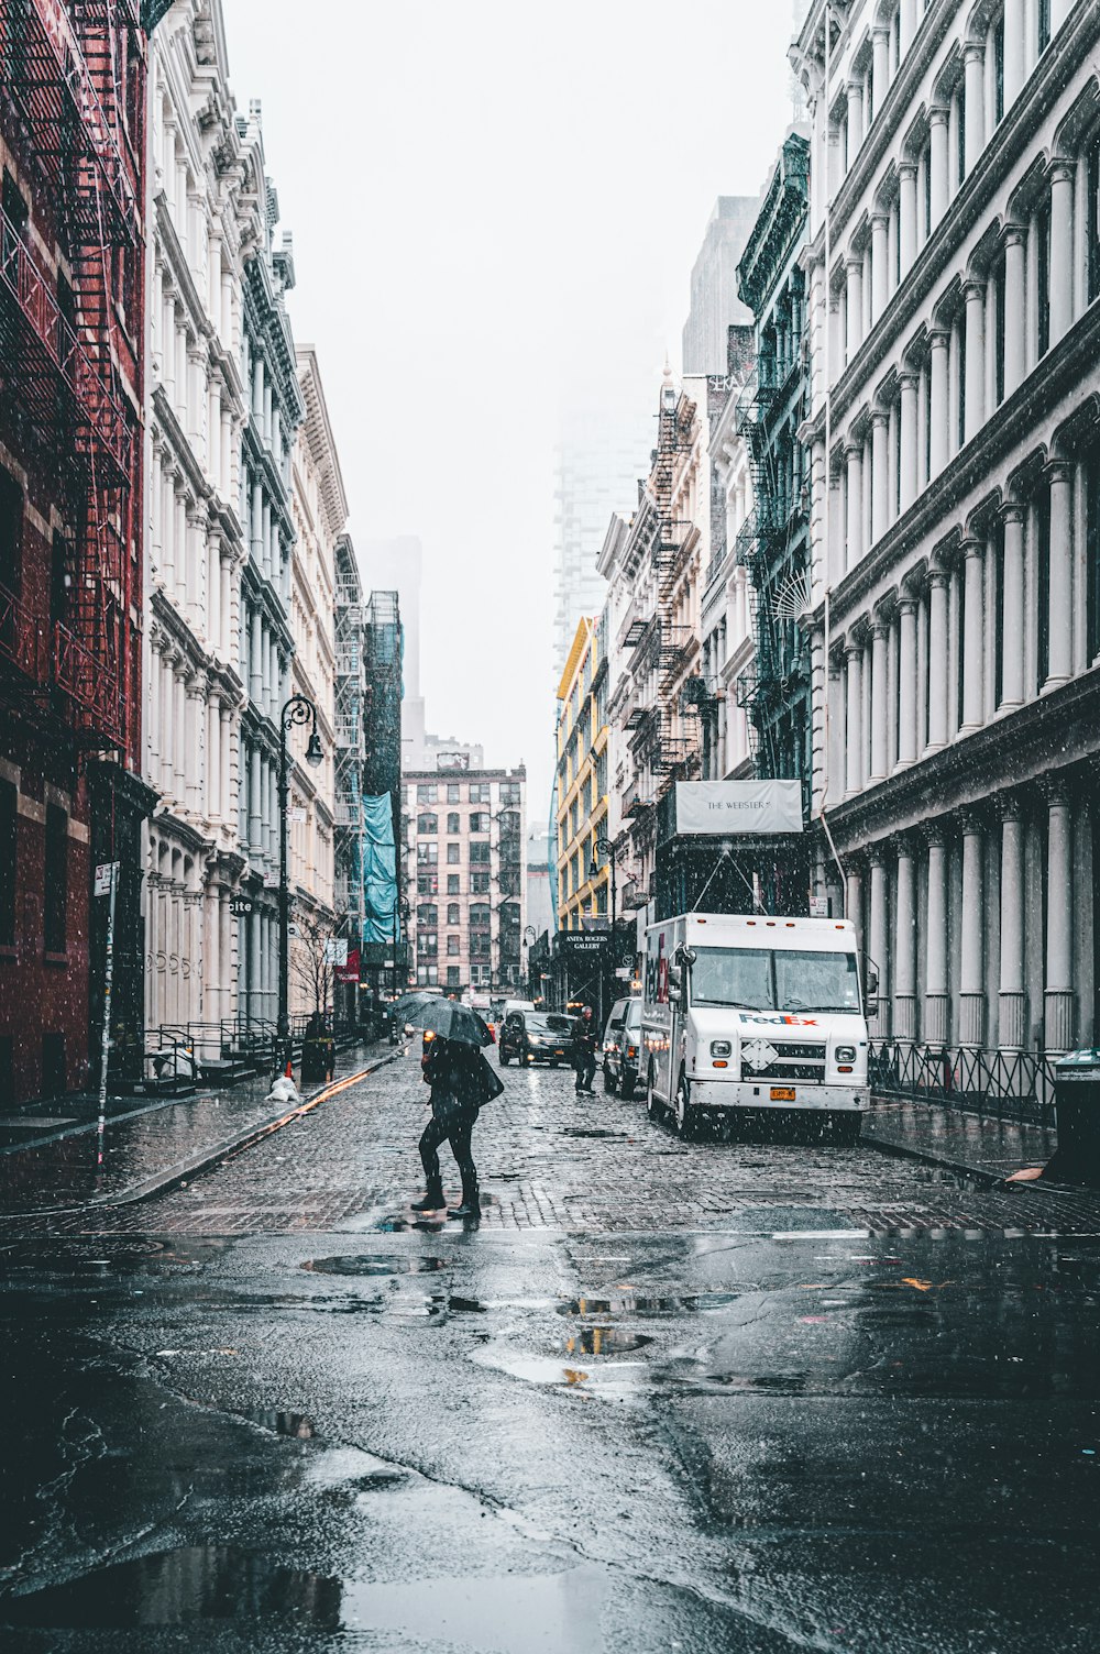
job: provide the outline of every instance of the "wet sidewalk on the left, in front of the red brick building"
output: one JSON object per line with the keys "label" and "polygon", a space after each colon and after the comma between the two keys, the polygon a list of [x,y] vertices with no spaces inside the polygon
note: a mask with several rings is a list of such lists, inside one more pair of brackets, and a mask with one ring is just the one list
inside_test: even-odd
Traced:
{"label": "wet sidewalk on the left, in front of the red brick building", "polygon": [[[356,1044],[337,1054],[336,1080],[371,1072],[392,1060],[392,1047]],[[104,1163],[96,1164],[96,1120],[60,1105],[51,1116],[36,1116],[41,1128],[26,1141],[25,1128],[7,1128],[0,1138],[0,1217],[71,1211],[84,1206],[117,1206],[195,1176],[233,1150],[266,1136],[294,1111],[294,1105],[266,1100],[270,1077],[242,1082],[222,1092],[164,1098],[108,1118]],[[324,1087],[303,1092],[303,1102]],[[134,1100],[131,1100],[134,1102]]]}

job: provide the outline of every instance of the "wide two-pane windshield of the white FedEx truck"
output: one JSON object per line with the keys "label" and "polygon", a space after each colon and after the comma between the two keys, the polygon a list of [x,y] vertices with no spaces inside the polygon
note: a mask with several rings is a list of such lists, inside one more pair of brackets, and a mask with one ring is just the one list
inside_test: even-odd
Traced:
{"label": "wide two-pane windshield of the white FedEx truck", "polygon": [[696,948],[690,982],[693,1006],[854,1014],[860,1009],[854,953]]}

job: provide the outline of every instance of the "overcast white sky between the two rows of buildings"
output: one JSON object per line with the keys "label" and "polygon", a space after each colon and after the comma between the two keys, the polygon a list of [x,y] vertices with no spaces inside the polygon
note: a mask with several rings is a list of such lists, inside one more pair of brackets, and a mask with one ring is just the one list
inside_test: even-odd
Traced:
{"label": "overcast white sky between the two rows of buildings", "polygon": [[526,759],[539,819],[561,399],[678,364],[715,197],[791,119],[792,0],[223,7],[352,534],[423,541],[428,728]]}

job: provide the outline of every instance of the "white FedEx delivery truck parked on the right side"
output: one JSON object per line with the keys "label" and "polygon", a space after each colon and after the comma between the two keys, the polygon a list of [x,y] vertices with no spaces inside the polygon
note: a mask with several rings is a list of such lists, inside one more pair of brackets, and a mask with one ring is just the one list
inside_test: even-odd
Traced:
{"label": "white FedEx delivery truck parked on the right side", "polygon": [[711,1110],[827,1115],[854,1141],[868,1107],[850,920],[686,913],[645,931],[647,1102],[688,1136]]}

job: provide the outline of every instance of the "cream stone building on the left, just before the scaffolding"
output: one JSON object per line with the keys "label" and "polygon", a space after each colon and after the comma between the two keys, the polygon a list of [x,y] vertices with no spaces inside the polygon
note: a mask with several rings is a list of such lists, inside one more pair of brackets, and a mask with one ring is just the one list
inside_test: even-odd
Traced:
{"label": "cream stone building on the left, just before the scaffolding", "polygon": [[304,418],[291,455],[289,625],[294,638],[291,695],[304,695],[318,710],[324,758],[314,769],[301,743],[291,743],[288,880],[298,936],[289,949],[289,1009],[314,1009],[314,961],[324,936],[334,931],[334,807],[336,807],[336,546],[347,526],[347,496],[324,387],[313,346],[298,347],[298,382]]}

